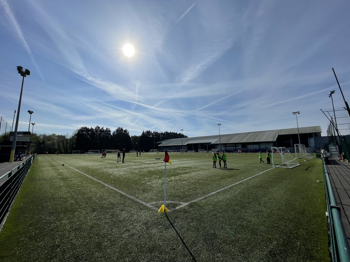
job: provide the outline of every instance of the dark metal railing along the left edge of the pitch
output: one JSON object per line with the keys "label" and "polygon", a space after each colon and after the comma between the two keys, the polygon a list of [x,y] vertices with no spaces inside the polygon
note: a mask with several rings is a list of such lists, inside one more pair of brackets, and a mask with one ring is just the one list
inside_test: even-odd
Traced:
{"label": "dark metal railing along the left edge of the pitch", "polygon": [[[21,188],[21,185],[29,171],[35,155],[23,161],[20,165],[9,170],[5,175],[0,177],[3,183],[0,185],[0,225],[2,227],[11,205]],[[0,229],[1,229],[0,227]]]}

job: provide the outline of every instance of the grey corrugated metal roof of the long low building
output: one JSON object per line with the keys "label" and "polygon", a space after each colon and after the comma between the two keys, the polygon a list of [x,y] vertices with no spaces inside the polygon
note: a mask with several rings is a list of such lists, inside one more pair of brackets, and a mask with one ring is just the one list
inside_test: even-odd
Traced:
{"label": "grey corrugated metal roof of the long low building", "polygon": [[[321,126],[306,126],[300,127],[299,133],[321,133]],[[246,132],[237,134],[221,134],[214,136],[204,136],[204,137],[186,137],[186,138],[175,138],[167,139],[157,142],[161,143],[159,146],[176,146],[176,145],[186,145],[186,144],[196,144],[196,143],[212,143],[212,144],[230,144],[230,143],[254,143],[254,142],[270,142],[275,141],[279,135],[282,134],[297,134],[297,128],[287,128],[287,129],[276,129],[267,131],[257,131],[257,132]],[[220,140],[220,141],[219,141]]]}

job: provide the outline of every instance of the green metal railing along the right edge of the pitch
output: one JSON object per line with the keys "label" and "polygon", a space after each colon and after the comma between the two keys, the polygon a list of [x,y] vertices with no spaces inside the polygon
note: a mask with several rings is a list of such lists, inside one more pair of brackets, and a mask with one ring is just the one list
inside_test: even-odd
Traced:
{"label": "green metal railing along the right edge of the pitch", "polygon": [[334,191],[329,179],[329,173],[323,158],[322,163],[332,261],[350,262],[350,248],[342,223],[340,207],[337,205]]}

